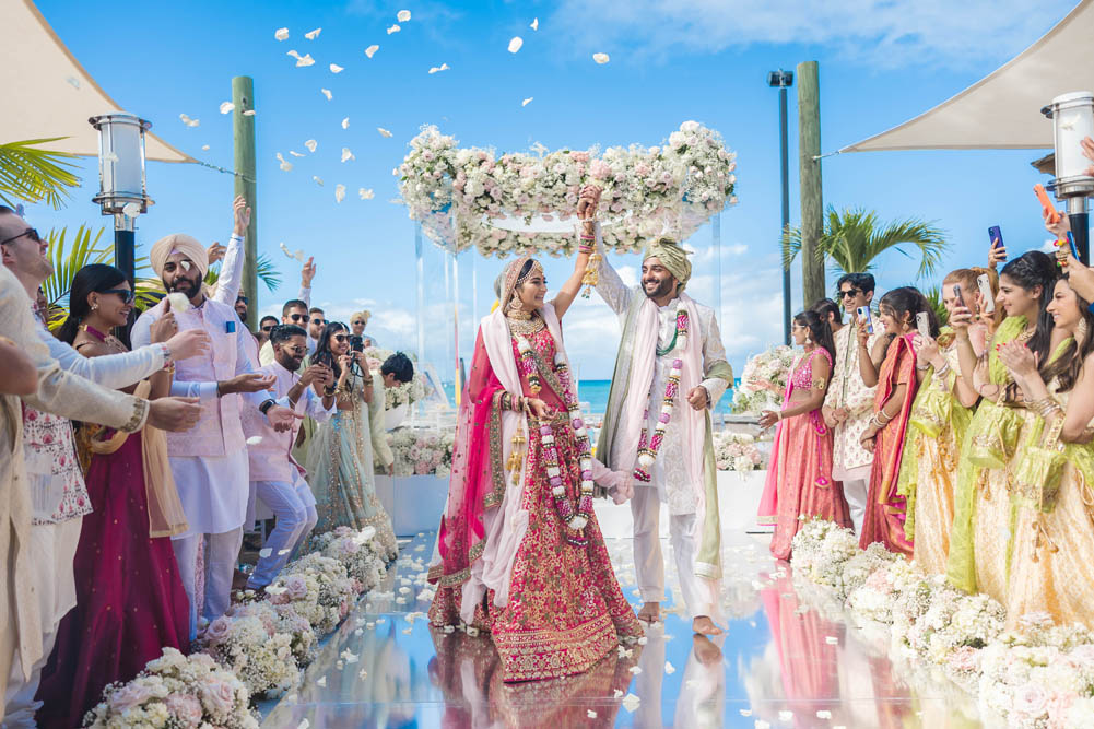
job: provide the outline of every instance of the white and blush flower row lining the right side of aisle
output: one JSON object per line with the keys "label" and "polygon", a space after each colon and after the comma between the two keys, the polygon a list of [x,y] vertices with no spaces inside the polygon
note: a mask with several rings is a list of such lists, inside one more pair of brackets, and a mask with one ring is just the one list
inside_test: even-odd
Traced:
{"label": "white and blush flower row lining the right side of aisle", "polygon": [[859,620],[888,626],[889,651],[938,669],[975,693],[990,726],[1029,729],[1094,726],[1094,634],[1024,615],[1004,629],[1003,606],[966,594],[943,575],[886,552],[858,548],[849,529],[810,520],[794,535],[794,579],[830,588]]}

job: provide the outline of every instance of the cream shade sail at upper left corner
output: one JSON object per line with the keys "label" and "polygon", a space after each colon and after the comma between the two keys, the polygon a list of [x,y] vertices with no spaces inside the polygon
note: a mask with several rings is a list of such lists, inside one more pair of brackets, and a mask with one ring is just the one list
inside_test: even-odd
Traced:
{"label": "cream shade sail at upper left corner", "polygon": [[[98,132],[88,119],[125,109],[95,83],[31,0],[0,0],[0,48],[5,58],[0,63],[5,109],[0,143],[65,137],[42,148],[96,157]],[[152,134],[146,153],[160,162],[195,161]]]}

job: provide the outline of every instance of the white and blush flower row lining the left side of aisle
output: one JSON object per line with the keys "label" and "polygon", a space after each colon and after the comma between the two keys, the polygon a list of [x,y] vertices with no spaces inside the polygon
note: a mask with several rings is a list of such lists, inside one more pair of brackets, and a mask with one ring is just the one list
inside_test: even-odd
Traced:
{"label": "white and blush flower row lining the left side of aisle", "polygon": [[386,566],[375,534],[340,526],[315,537],[315,551],[286,565],[265,595],[238,593],[242,602],[202,626],[194,653],[167,648],[132,681],[108,685],[84,726],[257,729],[252,699],[295,687],[319,637],[380,586]]}

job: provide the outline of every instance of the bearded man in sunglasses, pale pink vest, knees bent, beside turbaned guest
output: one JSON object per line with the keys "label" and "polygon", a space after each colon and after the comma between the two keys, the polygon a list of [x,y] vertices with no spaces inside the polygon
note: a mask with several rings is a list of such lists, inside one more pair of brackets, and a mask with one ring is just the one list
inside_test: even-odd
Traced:
{"label": "bearded man in sunglasses, pale pink vest, knees bent, beside turbaned guest", "polygon": [[[274,396],[279,402],[283,398],[300,415],[316,423],[327,421],[334,415],[335,396],[319,396],[312,385],[322,389],[334,384],[334,371],[325,364],[312,364],[300,371],[307,354],[307,333],[299,326],[282,324],[270,332],[270,342],[274,361],[258,372],[276,378]],[[251,590],[260,590],[274,581],[318,520],[304,468],[291,454],[300,423],[295,421],[290,432],[277,432],[257,410],[243,413],[243,433],[251,458],[251,498],[261,499],[277,518],[247,580]]]}

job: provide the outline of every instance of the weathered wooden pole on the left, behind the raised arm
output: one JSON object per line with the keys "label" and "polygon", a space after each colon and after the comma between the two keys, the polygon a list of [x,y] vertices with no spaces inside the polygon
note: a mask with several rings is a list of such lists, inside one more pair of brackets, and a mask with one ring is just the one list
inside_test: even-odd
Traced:
{"label": "weathered wooden pole on the left, behind the raised arm", "polygon": [[[235,146],[235,194],[251,206],[251,225],[243,242],[243,291],[249,297],[247,328],[258,329],[258,197],[255,174],[255,117],[244,112],[255,108],[255,82],[249,76],[232,79],[232,142]],[[234,303],[234,302],[233,302]]]}

